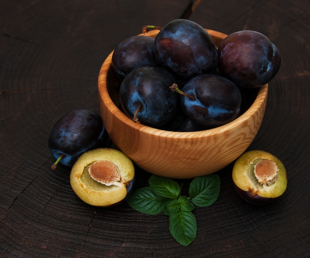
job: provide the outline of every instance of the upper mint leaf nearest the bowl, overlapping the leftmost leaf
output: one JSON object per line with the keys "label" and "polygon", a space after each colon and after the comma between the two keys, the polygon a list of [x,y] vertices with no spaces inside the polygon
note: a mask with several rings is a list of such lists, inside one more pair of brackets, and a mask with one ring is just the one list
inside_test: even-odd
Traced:
{"label": "upper mint leaf nearest the bowl, overlapping the leftmost leaf", "polygon": [[175,199],[181,191],[179,184],[167,177],[152,175],[149,184],[157,195],[165,198]]}

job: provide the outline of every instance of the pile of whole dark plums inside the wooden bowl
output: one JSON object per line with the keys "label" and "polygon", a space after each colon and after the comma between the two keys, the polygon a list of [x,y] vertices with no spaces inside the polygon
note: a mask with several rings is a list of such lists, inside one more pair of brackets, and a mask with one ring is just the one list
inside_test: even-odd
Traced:
{"label": "pile of whole dark plums inside the wooden bowl", "polygon": [[134,36],[115,48],[123,112],[134,122],[171,131],[224,125],[240,115],[246,89],[268,83],[280,53],[263,34],[239,31],[216,48],[199,24],[167,23],[155,38]]}

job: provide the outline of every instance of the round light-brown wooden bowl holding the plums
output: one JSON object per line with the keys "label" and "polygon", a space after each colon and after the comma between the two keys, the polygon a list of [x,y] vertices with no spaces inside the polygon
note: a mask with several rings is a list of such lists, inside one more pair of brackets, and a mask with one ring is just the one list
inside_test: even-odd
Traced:
{"label": "round light-brown wooden bowl holding the plums", "polygon": [[[227,36],[207,32],[217,46]],[[155,37],[157,33],[154,30],[143,35]],[[112,53],[104,60],[98,79],[103,122],[117,148],[145,171],[179,179],[211,174],[245,152],[257,135],[265,112],[268,84],[252,90],[248,106],[228,124],[198,132],[164,131],[135,123],[119,109],[121,82],[111,68]]]}

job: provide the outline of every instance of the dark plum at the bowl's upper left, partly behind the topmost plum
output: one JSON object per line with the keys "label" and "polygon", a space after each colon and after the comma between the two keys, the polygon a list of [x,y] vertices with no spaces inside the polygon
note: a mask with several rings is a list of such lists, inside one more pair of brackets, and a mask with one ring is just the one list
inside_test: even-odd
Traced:
{"label": "dark plum at the bowl's upper left, partly behind the topmost plum", "polygon": [[141,66],[158,66],[154,53],[155,39],[148,36],[133,36],[117,45],[112,55],[112,67],[119,77]]}

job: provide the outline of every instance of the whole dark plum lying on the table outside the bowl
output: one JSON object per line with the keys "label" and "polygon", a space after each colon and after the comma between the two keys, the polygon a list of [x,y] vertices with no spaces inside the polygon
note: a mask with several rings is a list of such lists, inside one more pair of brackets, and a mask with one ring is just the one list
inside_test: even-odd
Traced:
{"label": "whole dark plum lying on the table outside the bowl", "polygon": [[103,147],[107,142],[101,116],[90,109],[76,109],[59,118],[52,127],[49,150],[56,163],[72,167],[83,153]]}

